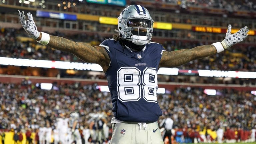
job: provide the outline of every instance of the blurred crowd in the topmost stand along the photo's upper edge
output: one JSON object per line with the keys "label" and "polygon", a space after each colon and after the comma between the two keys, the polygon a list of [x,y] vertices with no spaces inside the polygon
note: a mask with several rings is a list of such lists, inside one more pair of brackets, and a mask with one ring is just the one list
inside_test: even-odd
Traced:
{"label": "blurred crowd in the topmost stand along the photo's upper edge", "polygon": [[[143,0],[130,0],[127,1],[127,5],[136,4],[138,1]],[[229,12],[232,11],[254,11],[256,10],[256,2],[254,0],[148,0],[147,2],[152,3],[170,3],[174,5],[180,5],[182,8],[187,7],[201,7],[201,8],[220,8],[228,10]],[[120,14],[120,11],[123,9],[121,6],[115,6],[115,9],[108,9],[108,7],[104,5],[97,5],[90,2],[82,2],[77,4],[76,7],[70,7],[68,9],[60,9],[57,4],[57,2],[48,3],[46,1],[45,5],[46,8],[49,8],[51,10],[60,10],[60,11],[68,11],[68,12],[79,12],[79,13],[85,13],[85,14],[92,14],[92,15],[106,15],[106,16],[118,16]],[[24,5],[19,3],[18,0],[10,1],[10,5],[20,5],[25,7],[35,7],[35,8],[42,8],[39,5],[33,5],[32,3],[29,5]],[[79,7],[81,6],[81,7]],[[100,7],[104,7],[104,9],[100,9]]]}

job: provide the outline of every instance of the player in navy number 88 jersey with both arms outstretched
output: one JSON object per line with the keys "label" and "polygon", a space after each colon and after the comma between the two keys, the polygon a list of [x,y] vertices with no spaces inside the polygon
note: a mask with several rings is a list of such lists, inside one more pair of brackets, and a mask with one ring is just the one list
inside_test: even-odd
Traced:
{"label": "player in navy number 88 jersey with both arms outstretched", "polygon": [[99,46],[74,42],[37,30],[32,14],[18,11],[25,31],[35,40],[57,50],[70,52],[88,63],[99,64],[105,72],[111,93],[113,135],[110,143],[163,143],[158,128],[162,111],[157,103],[157,71],[160,67],[177,67],[189,61],[220,53],[248,36],[241,28],[231,34],[228,26],[221,42],[189,50],[167,52],[159,43],[150,42],[153,19],[141,5],[126,7],[118,17],[119,34]]}

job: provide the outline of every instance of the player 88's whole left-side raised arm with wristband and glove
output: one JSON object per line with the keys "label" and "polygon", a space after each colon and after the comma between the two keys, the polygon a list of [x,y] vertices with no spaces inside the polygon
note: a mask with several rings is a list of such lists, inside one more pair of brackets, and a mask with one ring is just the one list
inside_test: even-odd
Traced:
{"label": "player 88's whole left-side raised arm with wristband and glove", "polygon": [[39,32],[31,13],[27,14],[28,20],[26,20],[23,11],[18,11],[18,13],[25,31],[39,43],[48,45],[57,50],[70,52],[85,62],[99,64],[104,72],[108,69],[110,58],[104,47],[92,47],[86,43],[74,42],[66,38],[50,36],[49,34]]}

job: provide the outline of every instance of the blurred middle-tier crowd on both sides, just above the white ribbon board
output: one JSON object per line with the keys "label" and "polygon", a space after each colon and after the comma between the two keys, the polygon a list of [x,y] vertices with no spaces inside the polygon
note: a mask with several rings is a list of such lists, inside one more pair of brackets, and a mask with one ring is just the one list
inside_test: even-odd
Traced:
{"label": "blurred middle-tier crowd on both sides, just above the white ribbon board", "polygon": [[[105,37],[94,35],[93,37],[86,34],[65,35],[55,32],[52,35],[61,36],[74,41],[83,41],[93,46],[97,46]],[[54,50],[46,46],[35,43],[35,41],[22,41],[19,36],[27,36],[25,31],[13,28],[1,29],[0,32],[0,56],[26,59],[56,60],[69,62],[82,62],[73,54]],[[191,49],[196,46],[208,44],[206,42],[192,42],[169,40],[162,43],[167,51],[179,49]],[[214,70],[235,70],[235,71],[256,71],[255,45],[235,45],[225,52],[200,60],[191,61],[178,67],[179,69],[214,69]]]}

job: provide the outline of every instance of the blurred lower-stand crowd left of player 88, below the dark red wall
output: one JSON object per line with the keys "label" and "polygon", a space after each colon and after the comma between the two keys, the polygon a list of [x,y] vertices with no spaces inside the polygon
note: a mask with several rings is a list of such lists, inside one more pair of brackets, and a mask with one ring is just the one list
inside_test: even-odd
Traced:
{"label": "blurred lower-stand crowd left of player 88, below the dark red wall", "polygon": [[79,113],[81,129],[88,129],[101,113],[111,127],[111,97],[109,93],[100,92],[97,84],[54,87],[55,90],[42,90],[29,80],[21,84],[0,83],[0,129],[15,133],[29,130],[37,134],[35,141],[39,141],[39,128],[50,126],[54,130],[56,119],[69,118],[72,112]]}

